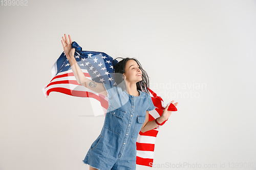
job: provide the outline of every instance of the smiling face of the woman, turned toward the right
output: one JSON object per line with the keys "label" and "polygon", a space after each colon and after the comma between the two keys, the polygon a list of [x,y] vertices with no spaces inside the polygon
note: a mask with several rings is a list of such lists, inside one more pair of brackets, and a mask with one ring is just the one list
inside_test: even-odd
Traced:
{"label": "smiling face of the woman, turned toward the right", "polygon": [[128,60],[125,64],[124,71],[125,73],[123,75],[126,81],[137,83],[142,80],[142,72],[135,60]]}

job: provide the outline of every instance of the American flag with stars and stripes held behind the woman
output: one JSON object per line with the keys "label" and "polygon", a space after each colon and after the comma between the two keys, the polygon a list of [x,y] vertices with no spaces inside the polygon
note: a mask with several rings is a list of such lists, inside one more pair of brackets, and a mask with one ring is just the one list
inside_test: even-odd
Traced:
{"label": "American flag with stars and stripes held behind the woman", "polygon": [[[74,57],[84,76],[98,83],[111,85],[116,84],[112,78],[114,77],[114,67],[118,62],[117,60],[113,60],[111,56],[102,52],[82,51],[82,48],[75,41],[72,42],[72,48],[75,48]],[[165,107],[163,106],[164,102],[162,98],[158,96],[152,89],[148,90],[150,91],[153,104],[156,107],[155,110],[149,112],[148,121],[151,121],[161,116]],[[55,91],[72,96],[78,96],[81,98],[94,99],[93,101],[96,101],[95,105],[101,106],[101,113],[104,115],[106,114],[106,110],[109,107],[108,98],[106,98],[106,96],[96,93],[77,83],[70,67],[69,60],[67,59],[64,52],[62,52],[60,57],[52,66],[52,79],[48,85],[42,88],[42,91],[44,92],[46,98],[50,92]],[[95,111],[94,113],[99,112]],[[94,115],[96,116],[96,114]],[[144,133],[141,131],[139,132],[136,142],[136,164],[152,167],[156,137],[159,128],[163,124]]]}

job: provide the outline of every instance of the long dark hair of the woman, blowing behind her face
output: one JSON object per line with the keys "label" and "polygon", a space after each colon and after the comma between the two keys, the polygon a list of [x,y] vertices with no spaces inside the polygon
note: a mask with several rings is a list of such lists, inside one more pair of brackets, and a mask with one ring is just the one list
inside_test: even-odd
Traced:
{"label": "long dark hair of the woman, blowing behind her face", "polygon": [[142,68],[140,62],[136,58],[128,58],[128,57],[127,58],[117,57],[114,59],[114,61],[118,58],[121,58],[122,60],[119,61],[114,66],[114,70],[115,70],[114,80],[115,80],[116,84],[119,85],[122,88],[122,90],[125,89],[125,86],[126,86],[125,83],[121,83],[121,82],[123,82],[122,74],[124,73],[124,68],[125,68],[126,62],[128,60],[134,60],[139,65],[140,70],[141,70],[141,76],[142,76],[142,80],[136,83],[137,90],[140,90],[142,92],[146,92],[149,94],[150,91],[147,88],[150,88],[150,83],[149,83],[150,81],[148,79],[146,71]]}

